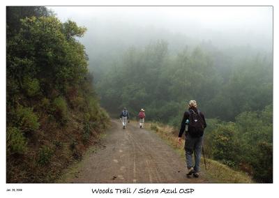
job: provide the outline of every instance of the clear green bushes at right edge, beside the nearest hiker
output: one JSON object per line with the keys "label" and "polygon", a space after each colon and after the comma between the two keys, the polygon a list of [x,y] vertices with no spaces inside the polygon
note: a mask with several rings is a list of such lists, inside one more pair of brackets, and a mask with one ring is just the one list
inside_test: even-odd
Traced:
{"label": "clear green bushes at right edge, beside the nearest hiker", "polygon": [[204,146],[209,158],[242,169],[256,181],[273,181],[272,106],[263,111],[243,112],[235,123],[210,120]]}

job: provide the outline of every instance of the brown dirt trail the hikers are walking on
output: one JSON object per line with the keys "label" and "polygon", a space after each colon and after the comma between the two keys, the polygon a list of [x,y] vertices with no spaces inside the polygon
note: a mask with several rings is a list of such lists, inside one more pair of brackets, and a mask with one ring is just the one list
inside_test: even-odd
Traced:
{"label": "brown dirt trail the hikers are walking on", "polygon": [[113,120],[101,149],[87,155],[66,183],[206,183],[186,178],[185,162],[158,135]]}

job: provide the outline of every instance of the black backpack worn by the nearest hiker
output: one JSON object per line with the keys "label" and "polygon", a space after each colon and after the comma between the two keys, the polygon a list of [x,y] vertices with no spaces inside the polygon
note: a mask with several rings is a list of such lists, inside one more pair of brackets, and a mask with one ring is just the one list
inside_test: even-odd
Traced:
{"label": "black backpack worn by the nearest hiker", "polygon": [[188,132],[191,137],[202,137],[204,135],[204,121],[199,110],[197,112],[193,109],[189,110]]}

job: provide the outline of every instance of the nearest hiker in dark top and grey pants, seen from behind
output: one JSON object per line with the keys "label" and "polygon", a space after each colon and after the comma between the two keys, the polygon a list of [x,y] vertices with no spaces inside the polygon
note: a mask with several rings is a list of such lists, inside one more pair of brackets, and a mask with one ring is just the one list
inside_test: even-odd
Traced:
{"label": "nearest hiker in dark top and grey pants, seen from behind", "polygon": [[[186,176],[188,177],[191,175],[199,177],[199,161],[201,158],[204,128],[206,128],[204,114],[197,109],[197,102],[195,100],[190,100],[188,111],[183,115],[179,132],[179,144],[181,144],[181,137],[184,130],[186,130],[184,149],[186,151],[186,166],[188,169]],[[193,153],[195,155],[194,167],[192,159]]]}

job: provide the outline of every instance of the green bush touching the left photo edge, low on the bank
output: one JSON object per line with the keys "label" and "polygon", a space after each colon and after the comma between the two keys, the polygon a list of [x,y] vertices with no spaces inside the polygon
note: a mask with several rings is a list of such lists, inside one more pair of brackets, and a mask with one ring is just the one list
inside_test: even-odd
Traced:
{"label": "green bush touching the left photo edge, low on the bank", "polygon": [[7,151],[11,154],[24,154],[27,151],[26,139],[19,128],[7,129]]}

